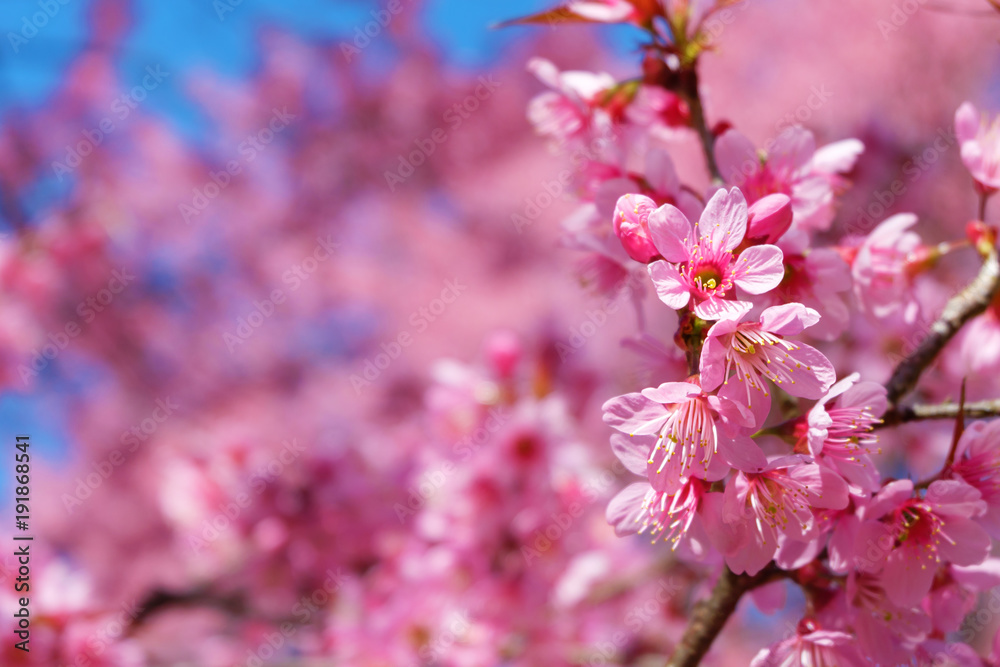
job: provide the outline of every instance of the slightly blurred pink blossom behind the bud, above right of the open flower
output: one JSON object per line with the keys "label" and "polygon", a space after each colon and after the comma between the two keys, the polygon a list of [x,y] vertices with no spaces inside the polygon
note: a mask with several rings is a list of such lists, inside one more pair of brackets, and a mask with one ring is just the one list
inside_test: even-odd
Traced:
{"label": "slightly blurred pink blossom behind the bud, above right of the open flower", "polygon": [[824,230],[833,220],[834,194],[847,182],[841,176],[854,168],[864,150],[857,139],[845,139],[816,149],[811,132],[790,127],[779,134],[761,156],[753,143],[728,130],[715,143],[715,159],[729,185],[753,203],[765,195],[791,197],[794,227]]}

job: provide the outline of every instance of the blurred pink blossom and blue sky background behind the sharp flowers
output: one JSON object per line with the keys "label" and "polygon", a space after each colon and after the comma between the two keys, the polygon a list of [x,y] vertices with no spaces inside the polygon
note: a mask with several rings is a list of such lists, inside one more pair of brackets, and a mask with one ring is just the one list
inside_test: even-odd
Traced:
{"label": "blurred pink blossom and blue sky background behind the sharp flowers", "polygon": [[[960,237],[954,110],[1000,108],[984,5],[750,0],[704,58],[709,116],[758,145],[790,122],[861,139],[831,238],[904,210]],[[570,188],[551,196],[572,156],[525,114],[531,57],[633,77],[637,35],[491,29],[531,0],[395,6],[0,7],[0,552],[19,434],[35,538],[30,655],[0,559],[0,663],[669,652],[703,573],[605,524],[630,480],[599,407],[683,373],[654,341],[675,321],[646,295],[637,338],[601,293],[560,225]],[[662,141],[703,187],[692,138]],[[967,264],[946,264],[953,287]],[[933,314],[952,288],[928,289]],[[861,323],[829,354],[881,380],[914,335]],[[932,378],[961,374],[959,343]],[[930,472],[947,428],[897,445]],[[801,601],[781,593],[711,664],[789,632]]]}

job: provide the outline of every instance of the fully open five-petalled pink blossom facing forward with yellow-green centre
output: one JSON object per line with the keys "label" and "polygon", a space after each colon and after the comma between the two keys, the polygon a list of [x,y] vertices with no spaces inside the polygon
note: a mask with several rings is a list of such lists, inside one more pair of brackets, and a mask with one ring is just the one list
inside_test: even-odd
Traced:
{"label": "fully open five-petalled pink blossom facing forward with yellow-green centre", "polygon": [[694,314],[717,320],[742,312],[734,287],[748,294],[774,289],[784,275],[781,250],[773,245],[733,251],[747,228],[747,204],[733,188],[712,196],[701,219],[691,223],[675,206],[661,206],[648,218],[653,244],[663,260],[649,265],[660,300],[675,310],[691,303]]}

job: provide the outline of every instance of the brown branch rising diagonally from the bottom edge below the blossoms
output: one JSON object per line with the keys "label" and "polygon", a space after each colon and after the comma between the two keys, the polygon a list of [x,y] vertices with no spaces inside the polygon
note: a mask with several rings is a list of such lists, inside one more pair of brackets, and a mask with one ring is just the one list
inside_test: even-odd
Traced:
{"label": "brown branch rising diagonally from the bottom edge below the blossoms", "polygon": [[696,667],[736,611],[743,594],[785,574],[774,562],[753,576],[733,574],[724,566],[712,594],[695,605],[687,630],[674,648],[667,667]]}

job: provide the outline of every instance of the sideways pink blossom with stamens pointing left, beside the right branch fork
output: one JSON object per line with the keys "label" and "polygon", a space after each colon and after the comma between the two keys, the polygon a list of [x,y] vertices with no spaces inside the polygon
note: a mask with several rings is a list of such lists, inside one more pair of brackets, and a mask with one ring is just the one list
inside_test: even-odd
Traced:
{"label": "sideways pink blossom with stamens pointing left, beside the right branch fork", "polygon": [[859,378],[852,373],[833,385],[806,418],[809,453],[840,473],[856,495],[878,489],[878,468],[871,459],[878,436],[873,430],[886,409],[885,387]]}

